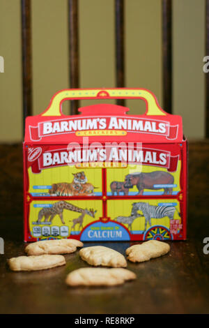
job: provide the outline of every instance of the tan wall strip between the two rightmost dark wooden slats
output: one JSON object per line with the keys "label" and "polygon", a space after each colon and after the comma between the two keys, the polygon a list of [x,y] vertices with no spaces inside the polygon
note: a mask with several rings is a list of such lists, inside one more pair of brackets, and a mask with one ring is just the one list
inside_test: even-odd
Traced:
{"label": "tan wall strip between the two rightmost dark wooden slats", "polygon": [[205,0],[173,1],[173,110],[188,137],[204,136]]}

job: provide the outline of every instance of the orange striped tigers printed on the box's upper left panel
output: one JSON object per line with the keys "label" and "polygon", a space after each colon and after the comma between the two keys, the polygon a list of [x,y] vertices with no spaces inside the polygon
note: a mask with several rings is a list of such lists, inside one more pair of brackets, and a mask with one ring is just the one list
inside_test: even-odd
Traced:
{"label": "orange striped tigers printed on the box's upper left panel", "polygon": [[52,188],[49,189],[49,195],[53,196],[86,196],[94,195],[94,187],[87,182],[87,177],[84,171],[79,173],[72,173],[74,179],[72,183],[61,182],[59,184],[52,184]]}

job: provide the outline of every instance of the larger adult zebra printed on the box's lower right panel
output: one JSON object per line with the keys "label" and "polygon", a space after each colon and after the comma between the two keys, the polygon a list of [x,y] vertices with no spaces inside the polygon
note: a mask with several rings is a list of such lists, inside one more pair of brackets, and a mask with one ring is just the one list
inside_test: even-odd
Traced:
{"label": "larger adult zebra printed on the box's lower right panel", "polygon": [[[137,211],[142,211],[143,216],[145,218],[145,227],[144,232],[146,231],[147,223],[151,226],[151,218],[164,218],[166,216],[169,217],[170,220],[173,219],[174,213],[176,211],[176,207],[174,206],[155,206],[150,205],[148,202],[134,202],[132,204],[132,216],[136,216]],[[178,212],[178,216],[180,213]]]}

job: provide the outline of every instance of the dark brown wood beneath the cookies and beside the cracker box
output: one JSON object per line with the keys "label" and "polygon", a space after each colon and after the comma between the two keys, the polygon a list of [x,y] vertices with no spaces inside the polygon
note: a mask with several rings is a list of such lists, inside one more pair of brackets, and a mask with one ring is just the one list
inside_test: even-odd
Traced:
{"label": "dark brown wood beneath the cookies and beside the cracker box", "polygon": [[[209,143],[189,144],[189,214],[187,241],[173,241],[162,258],[128,269],[137,280],[113,288],[68,288],[65,276],[86,263],[78,252],[67,265],[34,272],[12,272],[6,259],[24,254],[22,217],[22,147],[0,145],[0,313],[209,313]],[[125,254],[129,242],[97,243]],[[94,243],[85,243],[85,246]]]}

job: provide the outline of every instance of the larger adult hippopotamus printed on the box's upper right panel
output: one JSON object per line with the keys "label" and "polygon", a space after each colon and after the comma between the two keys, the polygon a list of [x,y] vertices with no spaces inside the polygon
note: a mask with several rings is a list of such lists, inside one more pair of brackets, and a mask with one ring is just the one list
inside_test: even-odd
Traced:
{"label": "larger adult hippopotamus printed on the box's upper right panel", "polygon": [[[139,193],[143,195],[144,189],[162,189],[162,187],[154,188],[155,184],[173,184],[173,175],[164,171],[154,172],[134,172],[125,176],[124,188],[133,188],[137,186]],[[164,195],[172,195],[173,188],[163,188]]]}

